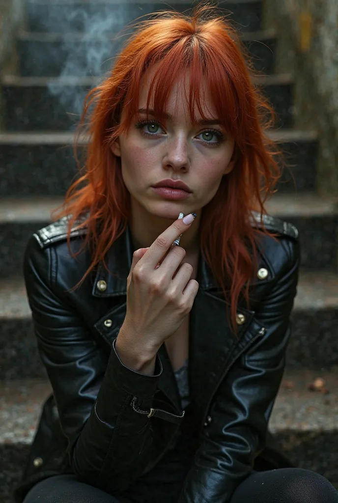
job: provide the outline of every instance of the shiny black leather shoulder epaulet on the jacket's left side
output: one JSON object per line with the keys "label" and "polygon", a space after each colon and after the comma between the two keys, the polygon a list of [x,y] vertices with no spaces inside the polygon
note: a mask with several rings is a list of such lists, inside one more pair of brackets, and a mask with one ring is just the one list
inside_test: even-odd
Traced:
{"label": "shiny black leather shoulder epaulet on the jacket's left side", "polygon": [[[34,233],[34,237],[38,240],[41,248],[46,248],[57,241],[67,239],[69,219],[70,215],[66,215]],[[81,236],[87,233],[87,227],[78,228],[78,225],[83,223],[83,221],[84,218],[75,220],[70,231],[70,237]]]}

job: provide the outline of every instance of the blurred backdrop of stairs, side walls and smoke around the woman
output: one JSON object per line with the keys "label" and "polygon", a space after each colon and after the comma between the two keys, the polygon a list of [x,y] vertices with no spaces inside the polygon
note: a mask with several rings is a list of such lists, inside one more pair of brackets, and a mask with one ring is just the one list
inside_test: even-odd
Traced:
{"label": "blurred backdrop of stairs, side walls and smoke around the woman", "polygon": [[[139,16],[189,1],[0,0],[0,500],[21,475],[43,399],[22,277],[30,235],[50,222],[76,176],[83,98]],[[338,3],[219,2],[240,31],[278,114],[285,152],[269,212],[295,224],[302,267],[287,369],[270,423],[282,448],[338,488]],[[188,10],[188,11],[187,11]],[[147,19],[147,18],[143,18]],[[116,38],[114,38],[116,37]],[[294,180],[293,180],[294,178]],[[34,466],[43,459],[33,461]]]}

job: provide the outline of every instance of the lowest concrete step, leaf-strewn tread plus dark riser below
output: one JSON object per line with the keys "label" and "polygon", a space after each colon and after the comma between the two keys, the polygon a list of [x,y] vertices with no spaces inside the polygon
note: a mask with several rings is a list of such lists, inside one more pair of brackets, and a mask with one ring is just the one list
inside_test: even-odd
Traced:
{"label": "lowest concrete step, leaf-strewn tread plus dark riser below", "polygon": [[[309,391],[317,377],[329,393]],[[338,488],[337,373],[287,371],[274,405],[270,430],[281,449],[301,468],[320,473]],[[0,499],[14,503],[38,425],[41,405],[51,392],[48,381],[25,379],[0,383]]]}

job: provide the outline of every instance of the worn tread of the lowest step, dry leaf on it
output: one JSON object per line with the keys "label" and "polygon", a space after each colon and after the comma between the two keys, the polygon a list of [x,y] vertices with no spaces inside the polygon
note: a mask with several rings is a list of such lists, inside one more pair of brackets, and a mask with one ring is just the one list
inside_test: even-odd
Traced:
{"label": "worn tread of the lowest step, dry leaf on it", "polygon": [[[328,394],[308,390],[318,377],[324,379]],[[335,371],[318,374],[307,369],[286,369],[271,415],[271,432],[317,430],[338,434],[337,390]],[[51,392],[47,379],[0,381],[0,443],[31,443],[41,405]]]}

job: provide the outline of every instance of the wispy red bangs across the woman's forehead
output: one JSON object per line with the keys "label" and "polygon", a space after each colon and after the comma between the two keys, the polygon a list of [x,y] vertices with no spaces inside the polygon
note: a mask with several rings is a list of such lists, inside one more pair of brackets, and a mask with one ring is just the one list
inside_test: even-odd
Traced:
{"label": "wispy red bangs across the woman's forehead", "polygon": [[[215,51],[213,47],[212,50],[208,50],[202,36],[191,35],[181,38],[167,50],[162,48],[160,53],[157,50],[156,54],[148,54],[146,61],[140,56],[138,66],[133,68],[125,95],[125,119],[118,127],[116,134],[126,133],[135,116],[138,120],[142,120],[138,112],[141,82],[146,72],[153,68],[145,106],[147,118],[155,116],[160,122],[165,123],[168,98],[173,86],[177,83],[178,94],[184,93],[186,110],[194,127],[198,126],[200,121],[218,119],[226,132],[238,141],[237,133],[240,130],[241,119],[238,93],[230,68],[227,69],[230,65],[227,65],[224,60],[226,59],[225,48],[220,45],[218,49]],[[189,78],[188,89],[187,77]],[[210,92],[216,117],[208,115],[205,102],[206,89]],[[178,100],[175,105],[175,114],[177,106]],[[197,119],[195,108],[201,119]],[[154,114],[149,112],[149,109]]]}

